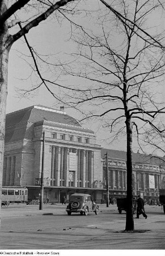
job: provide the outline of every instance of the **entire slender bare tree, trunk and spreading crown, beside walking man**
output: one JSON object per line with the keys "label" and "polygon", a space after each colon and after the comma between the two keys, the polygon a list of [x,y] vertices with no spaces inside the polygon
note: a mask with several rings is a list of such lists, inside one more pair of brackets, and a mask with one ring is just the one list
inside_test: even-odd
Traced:
{"label": "entire slender bare tree, trunk and spreading crown, beside walking man", "polygon": [[[115,127],[117,134],[125,131],[128,202],[125,231],[128,232],[134,230],[133,132],[140,138],[142,129],[164,131],[158,118],[165,113],[165,107],[156,94],[161,91],[164,55],[162,47],[154,43],[162,44],[164,35],[158,30],[152,40],[143,35],[143,31],[155,29],[149,25],[150,17],[160,3],[119,0],[115,5],[120,6],[120,17],[125,20],[113,16],[109,12],[111,6],[106,3],[105,10],[95,17],[96,29],[75,31],[73,40],[78,43],[78,51],[71,55],[74,62],[63,68],[65,75],[82,79],[82,85],[70,94],[69,104],[79,108],[84,119],[102,118],[111,132]],[[88,106],[86,112],[85,106]]]}

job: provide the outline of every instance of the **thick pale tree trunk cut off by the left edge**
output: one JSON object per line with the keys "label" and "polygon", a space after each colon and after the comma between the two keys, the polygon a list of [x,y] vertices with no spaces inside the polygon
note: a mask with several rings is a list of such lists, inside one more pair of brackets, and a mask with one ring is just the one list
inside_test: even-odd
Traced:
{"label": "thick pale tree trunk cut off by the left edge", "polygon": [[[6,9],[7,1],[0,5],[0,15]],[[8,39],[7,23],[0,26],[0,204],[2,196],[2,175],[5,140],[5,119],[6,119],[6,98],[7,98],[7,75],[10,47],[6,47]],[[0,226],[1,226],[1,205],[0,205]]]}

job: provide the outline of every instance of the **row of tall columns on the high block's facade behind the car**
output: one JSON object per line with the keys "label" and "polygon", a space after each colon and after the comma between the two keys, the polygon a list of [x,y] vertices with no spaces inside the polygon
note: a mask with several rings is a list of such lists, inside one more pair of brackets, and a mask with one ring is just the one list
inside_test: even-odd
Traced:
{"label": "row of tall columns on the high block's facade behind the car", "polygon": [[[70,170],[69,153],[76,155],[75,168]],[[77,148],[52,146],[50,185],[65,187],[92,187],[94,152]]]}

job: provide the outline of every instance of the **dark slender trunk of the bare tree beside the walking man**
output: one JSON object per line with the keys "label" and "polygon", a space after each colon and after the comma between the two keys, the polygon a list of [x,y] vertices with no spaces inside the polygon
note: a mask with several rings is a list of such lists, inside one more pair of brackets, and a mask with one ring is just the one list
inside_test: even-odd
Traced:
{"label": "dark slender trunk of the bare tree beside the walking man", "polygon": [[133,221],[133,176],[132,176],[132,123],[131,118],[126,118],[126,135],[127,135],[127,152],[126,152],[126,161],[127,161],[127,209],[126,209],[126,225],[125,231],[134,230],[134,221]]}

